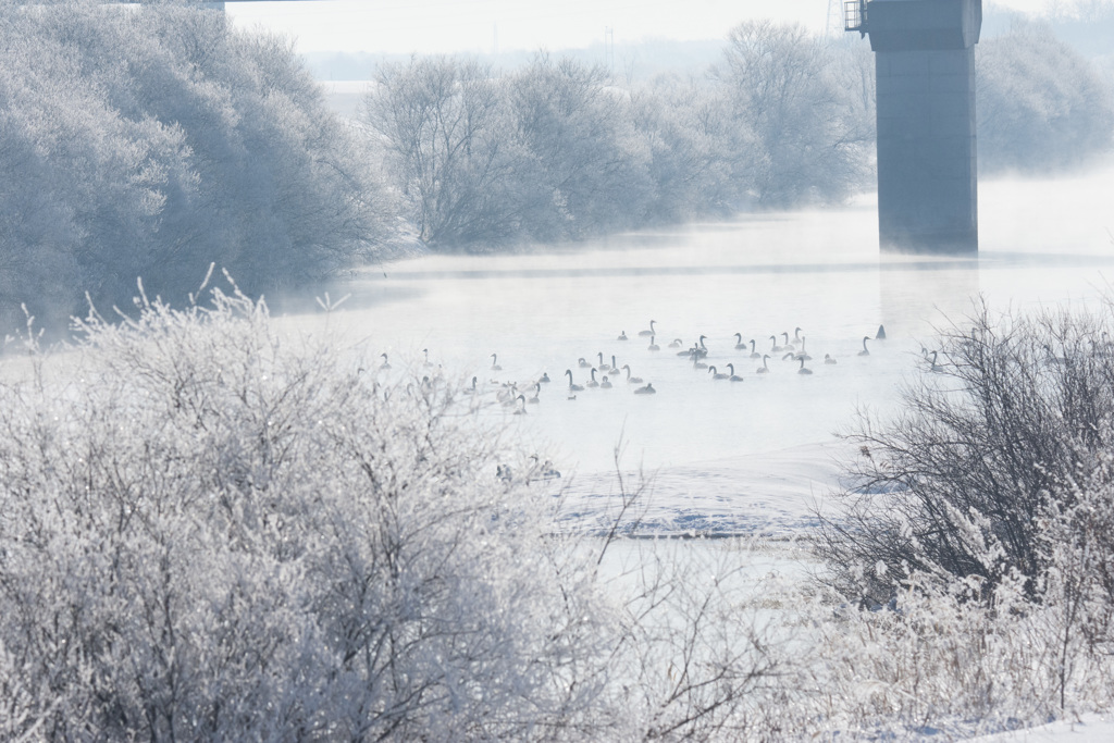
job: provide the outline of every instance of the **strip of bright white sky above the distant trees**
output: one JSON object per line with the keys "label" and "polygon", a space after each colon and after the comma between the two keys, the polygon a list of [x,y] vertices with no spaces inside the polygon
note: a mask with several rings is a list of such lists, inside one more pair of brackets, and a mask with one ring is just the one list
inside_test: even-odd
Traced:
{"label": "strip of bright white sky above the distant trees", "polygon": [[[229,2],[243,29],[291,36],[297,50],[379,53],[490,52],[587,47],[612,29],[616,45],[722,39],[749,18],[822,30],[841,0],[315,0]],[[1049,0],[996,0],[1037,12]]]}

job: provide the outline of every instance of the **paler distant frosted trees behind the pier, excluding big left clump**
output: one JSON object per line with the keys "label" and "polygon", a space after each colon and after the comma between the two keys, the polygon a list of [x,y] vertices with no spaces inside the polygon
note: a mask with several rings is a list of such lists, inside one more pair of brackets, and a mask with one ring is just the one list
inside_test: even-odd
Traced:
{"label": "paler distant frosted trees behind the pier, excluding big left clump", "polygon": [[[1110,150],[1110,81],[1047,31],[1019,27],[978,48],[983,173],[1062,169]],[[431,245],[838,203],[873,185],[873,58],[857,41],[746,22],[705,76],[638,86],[546,55],[511,72],[413,58],[379,68],[365,120]]]}

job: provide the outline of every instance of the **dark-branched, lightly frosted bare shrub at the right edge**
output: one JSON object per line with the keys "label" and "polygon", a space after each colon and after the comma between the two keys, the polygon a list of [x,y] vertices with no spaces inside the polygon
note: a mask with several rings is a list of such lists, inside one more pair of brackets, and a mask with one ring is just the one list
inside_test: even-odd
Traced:
{"label": "dark-branched, lightly frosted bare shrub at the right edge", "polygon": [[1111,330],[1108,306],[1000,317],[984,306],[944,330],[895,418],[863,414],[848,436],[851,489],[821,547],[843,585],[886,604],[909,573],[993,583],[1017,570],[1036,595],[1049,500],[1071,508],[1071,483],[1114,440]]}

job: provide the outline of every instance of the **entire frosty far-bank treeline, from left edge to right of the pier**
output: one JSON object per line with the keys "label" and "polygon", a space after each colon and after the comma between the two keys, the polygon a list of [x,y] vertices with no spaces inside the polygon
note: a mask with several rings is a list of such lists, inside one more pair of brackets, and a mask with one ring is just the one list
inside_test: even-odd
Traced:
{"label": "entire frosty far-bank treeline, from left edge to right of the pier", "polygon": [[[703,75],[617,80],[537,55],[514,70],[421,57],[331,114],[289,41],[219,12],[0,0],[0,327],[85,296],[170,301],[211,263],[257,294],[390,253],[494,250],[872,187],[861,40],[746,22]],[[1108,151],[1110,81],[1047,29],[979,55],[984,172]]]}

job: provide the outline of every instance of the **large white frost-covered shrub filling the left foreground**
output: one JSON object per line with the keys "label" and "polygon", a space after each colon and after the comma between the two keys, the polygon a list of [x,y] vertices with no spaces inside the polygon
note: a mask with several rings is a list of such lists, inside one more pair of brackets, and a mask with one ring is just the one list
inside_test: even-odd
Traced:
{"label": "large white frost-covered shrub filling the left foreground", "polygon": [[29,725],[449,740],[598,724],[609,605],[551,536],[553,499],[497,478],[530,461],[459,414],[469,395],[383,385],[237,294],[139,310],[91,316],[76,349],[0,387],[0,688],[32,700]]}

